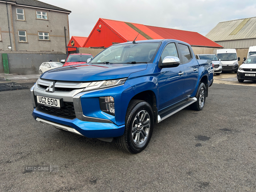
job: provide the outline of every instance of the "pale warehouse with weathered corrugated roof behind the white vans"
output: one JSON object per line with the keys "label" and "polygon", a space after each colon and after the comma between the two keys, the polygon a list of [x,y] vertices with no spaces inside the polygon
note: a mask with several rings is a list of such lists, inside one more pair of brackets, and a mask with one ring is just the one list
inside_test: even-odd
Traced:
{"label": "pale warehouse with weathered corrugated roof behind the white vans", "polygon": [[244,49],[256,45],[256,17],[218,23],[206,37],[224,49]]}

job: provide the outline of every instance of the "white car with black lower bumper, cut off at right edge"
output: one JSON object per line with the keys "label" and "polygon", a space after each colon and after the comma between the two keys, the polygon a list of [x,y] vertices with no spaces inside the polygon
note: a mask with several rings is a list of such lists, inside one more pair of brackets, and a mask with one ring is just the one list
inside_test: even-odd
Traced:
{"label": "white car with black lower bumper, cut off at right edge", "polygon": [[250,55],[240,65],[237,72],[237,80],[239,82],[244,82],[244,80],[256,81],[256,54]]}

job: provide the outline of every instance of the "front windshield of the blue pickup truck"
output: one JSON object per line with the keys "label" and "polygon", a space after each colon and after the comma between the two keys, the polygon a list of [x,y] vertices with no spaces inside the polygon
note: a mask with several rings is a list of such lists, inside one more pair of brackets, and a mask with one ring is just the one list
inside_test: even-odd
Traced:
{"label": "front windshield of the blue pickup truck", "polygon": [[117,44],[99,53],[90,63],[149,63],[153,61],[159,46],[160,42]]}

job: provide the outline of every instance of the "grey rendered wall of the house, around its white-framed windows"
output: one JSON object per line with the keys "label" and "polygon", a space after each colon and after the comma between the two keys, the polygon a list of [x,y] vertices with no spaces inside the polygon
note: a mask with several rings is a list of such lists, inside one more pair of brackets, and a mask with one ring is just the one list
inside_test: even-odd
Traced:
{"label": "grey rendered wall of the house, around its white-framed windows", "polygon": [[[16,19],[16,8],[24,9],[25,20]],[[47,12],[47,20],[36,19],[36,10]],[[12,41],[12,50],[66,52],[64,26],[66,27],[66,40],[69,42],[68,13],[40,8],[30,8],[8,3],[9,26]],[[10,46],[6,4],[0,2],[0,49],[9,51]],[[27,42],[18,41],[18,30],[26,31]],[[38,32],[48,32],[49,40],[39,40]]]}

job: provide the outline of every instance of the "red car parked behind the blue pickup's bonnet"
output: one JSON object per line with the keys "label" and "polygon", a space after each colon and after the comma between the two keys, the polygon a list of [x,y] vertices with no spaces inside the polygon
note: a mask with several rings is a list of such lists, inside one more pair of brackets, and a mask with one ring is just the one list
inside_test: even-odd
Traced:
{"label": "red car parked behind the blue pickup's bonnet", "polygon": [[68,55],[67,60],[63,65],[63,67],[70,66],[70,65],[84,64],[84,63],[87,63],[88,59],[91,60],[92,58],[93,58],[93,55],[91,54],[84,54],[84,53],[70,54]]}

